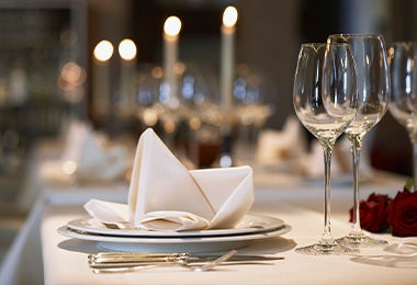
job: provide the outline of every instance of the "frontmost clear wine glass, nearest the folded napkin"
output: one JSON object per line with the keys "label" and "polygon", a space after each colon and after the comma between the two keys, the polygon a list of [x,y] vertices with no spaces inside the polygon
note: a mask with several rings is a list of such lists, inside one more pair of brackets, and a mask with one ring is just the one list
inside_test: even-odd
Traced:
{"label": "frontmost clear wine glass, nearest the folded napkin", "polygon": [[342,254],[330,232],[330,161],[336,139],[357,112],[357,73],[347,44],[303,44],[294,78],[293,103],[301,123],[318,139],[325,161],[325,208],[322,239],[296,249],[306,254]]}

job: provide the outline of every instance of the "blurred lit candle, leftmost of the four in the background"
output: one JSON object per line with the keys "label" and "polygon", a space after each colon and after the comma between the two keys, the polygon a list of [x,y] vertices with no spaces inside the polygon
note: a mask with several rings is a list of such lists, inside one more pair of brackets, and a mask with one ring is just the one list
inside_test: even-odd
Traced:
{"label": "blurred lit candle, leftmost of the four in the background", "polygon": [[110,70],[109,60],[113,55],[113,45],[106,39],[101,41],[93,52],[93,111],[104,114],[110,109]]}

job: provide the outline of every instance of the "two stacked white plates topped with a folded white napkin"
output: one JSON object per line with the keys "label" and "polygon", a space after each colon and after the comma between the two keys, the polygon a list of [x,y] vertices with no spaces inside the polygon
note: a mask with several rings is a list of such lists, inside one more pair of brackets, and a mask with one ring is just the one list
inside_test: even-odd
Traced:
{"label": "two stacked white plates topped with a folded white napkin", "polygon": [[250,167],[190,171],[151,128],[138,140],[126,198],[92,198],[83,205],[86,217],[58,232],[106,251],[192,253],[239,249],[291,230],[280,218],[250,210]]}

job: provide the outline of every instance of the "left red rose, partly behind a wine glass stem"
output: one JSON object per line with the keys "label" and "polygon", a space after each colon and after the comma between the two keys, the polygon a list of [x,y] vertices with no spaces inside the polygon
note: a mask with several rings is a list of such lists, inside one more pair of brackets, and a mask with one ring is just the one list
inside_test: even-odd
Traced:
{"label": "left red rose, partly behind a wine glass stem", "polygon": [[[390,227],[387,217],[392,198],[388,195],[372,193],[368,201],[359,203],[361,228],[371,232],[379,232]],[[353,208],[350,209],[350,221],[353,221]]]}

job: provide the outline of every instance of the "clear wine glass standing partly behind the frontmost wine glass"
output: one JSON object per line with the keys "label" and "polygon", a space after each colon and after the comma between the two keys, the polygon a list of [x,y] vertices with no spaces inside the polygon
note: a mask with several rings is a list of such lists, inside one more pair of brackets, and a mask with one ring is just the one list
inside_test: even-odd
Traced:
{"label": "clear wine glass standing partly behind the frontmost wine glass", "polygon": [[351,45],[358,72],[359,107],[345,134],[351,142],[353,163],[353,223],[350,232],[338,241],[350,247],[384,244],[361,229],[359,215],[359,161],[363,137],[386,113],[390,102],[390,72],[384,38],[369,34],[335,34],[327,43]]}

